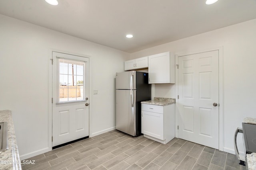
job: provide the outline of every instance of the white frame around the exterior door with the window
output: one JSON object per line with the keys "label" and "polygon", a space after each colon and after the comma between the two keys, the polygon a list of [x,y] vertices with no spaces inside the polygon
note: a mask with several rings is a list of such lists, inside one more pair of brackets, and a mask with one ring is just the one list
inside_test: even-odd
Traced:
{"label": "white frame around the exterior door with the window", "polygon": [[[53,52],[57,52],[57,53],[65,53],[68,55],[76,55],[76,56],[80,56],[80,57],[86,57],[89,59],[89,101],[90,103],[92,103],[92,92],[91,92],[91,87],[92,87],[92,81],[91,81],[91,75],[92,75],[92,71],[91,71],[91,64],[90,64],[90,56],[88,55],[82,55],[82,54],[78,54],[78,53],[70,53],[67,51],[61,51],[61,50],[57,50],[57,49],[49,49],[49,54],[48,54],[48,70],[49,70],[49,84],[48,84],[48,89],[49,89],[49,96],[48,96],[48,151],[52,150],[52,53]],[[89,137],[91,136],[91,121],[92,116],[91,116],[91,109],[90,109],[90,105],[89,105]]]}

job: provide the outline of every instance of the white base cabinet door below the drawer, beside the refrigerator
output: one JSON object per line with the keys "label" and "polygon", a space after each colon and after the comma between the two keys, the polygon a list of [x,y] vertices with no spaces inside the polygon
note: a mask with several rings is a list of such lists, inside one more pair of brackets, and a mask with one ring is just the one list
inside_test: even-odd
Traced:
{"label": "white base cabinet door below the drawer, beside the refrigerator", "polygon": [[164,140],[164,115],[150,111],[141,112],[142,133]]}

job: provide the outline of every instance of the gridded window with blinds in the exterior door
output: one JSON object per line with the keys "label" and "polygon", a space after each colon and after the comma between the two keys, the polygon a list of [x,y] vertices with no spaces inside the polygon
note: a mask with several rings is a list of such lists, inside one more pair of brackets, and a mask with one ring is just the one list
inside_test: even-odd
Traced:
{"label": "gridded window with blinds in the exterior door", "polygon": [[56,103],[85,101],[85,67],[83,61],[57,58]]}

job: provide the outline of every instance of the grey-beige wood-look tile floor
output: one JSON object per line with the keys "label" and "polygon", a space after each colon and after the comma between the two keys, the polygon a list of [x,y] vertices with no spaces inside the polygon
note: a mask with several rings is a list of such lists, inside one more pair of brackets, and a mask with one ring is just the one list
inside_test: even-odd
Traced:
{"label": "grey-beige wood-look tile floor", "polygon": [[113,130],[29,158],[23,170],[245,170],[235,155],[174,138],[166,145]]}

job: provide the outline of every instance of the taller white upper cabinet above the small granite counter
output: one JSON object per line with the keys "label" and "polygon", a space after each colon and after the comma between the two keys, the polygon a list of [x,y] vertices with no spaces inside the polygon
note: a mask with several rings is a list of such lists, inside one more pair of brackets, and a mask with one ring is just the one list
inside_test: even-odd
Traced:
{"label": "taller white upper cabinet above the small granite counter", "polygon": [[148,83],[175,83],[175,57],[170,52],[148,56]]}

